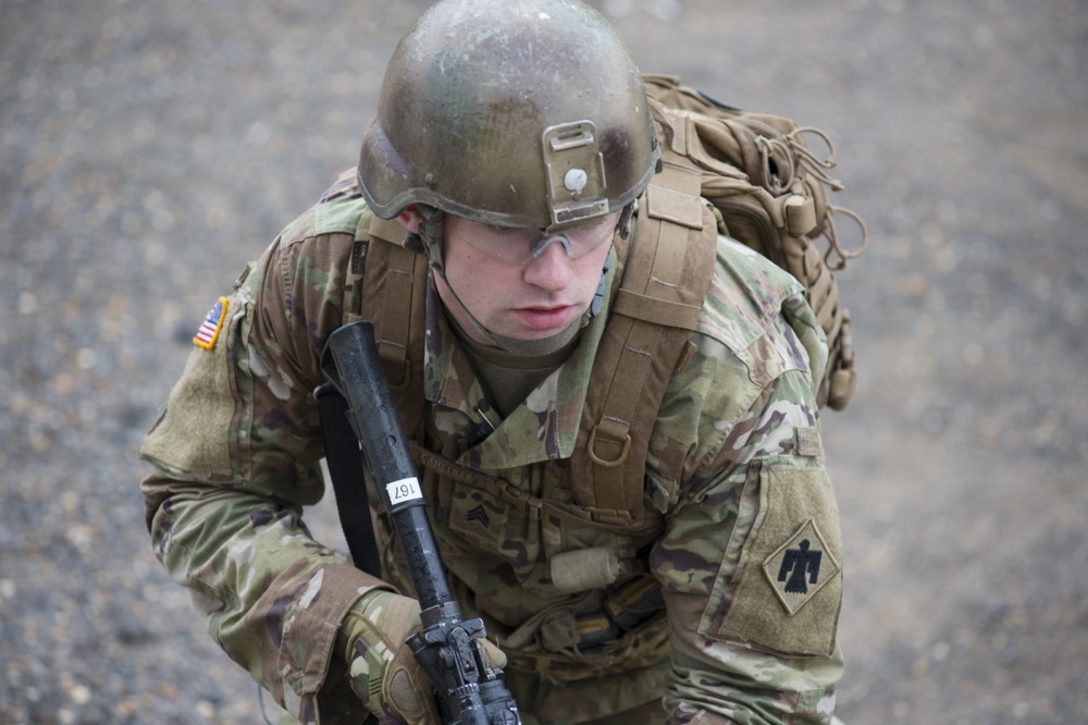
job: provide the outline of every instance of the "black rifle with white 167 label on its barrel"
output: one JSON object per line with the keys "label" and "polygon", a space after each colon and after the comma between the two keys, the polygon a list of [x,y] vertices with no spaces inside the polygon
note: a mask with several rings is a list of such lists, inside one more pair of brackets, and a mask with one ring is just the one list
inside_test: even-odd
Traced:
{"label": "black rifle with white 167 label on its barrel", "polygon": [[[442,722],[519,725],[518,705],[506,689],[503,671],[487,667],[477,641],[486,637],[483,620],[466,620],[449,592],[373,325],[354,322],[333,332],[321,357],[321,372],[346,401],[347,421],[408,560],[422,631],[406,641],[431,680]],[[358,483],[366,487],[364,481]]]}

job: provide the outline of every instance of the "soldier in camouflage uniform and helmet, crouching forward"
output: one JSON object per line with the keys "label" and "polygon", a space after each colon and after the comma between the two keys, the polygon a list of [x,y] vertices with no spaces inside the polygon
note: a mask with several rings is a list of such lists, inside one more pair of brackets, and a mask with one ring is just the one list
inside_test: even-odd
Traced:
{"label": "soldier in camouflage uniform and helmet, crouching forward", "polygon": [[[675,229],[647,211],[647,188],[676,192],[660,134],[594,11],[443,0],[394,53],[357,170],[209,314],[140,451],[147,525],[215,641],[297,721],[435,722],[388,523],[378,579],[301,519],[323,491],[324,342],[374,316],[386,347],[408,340],[419,407],[401,413],[443,563],[523,722],[831,721],[841,542],[814,392],[827,346],[801,284],[695,204],[685,233],[713,261],[659,402],[619,420],[626,439],[615,416],[585,425],[653,377],[638,366],[658,353],[608,341],[639,304],[625,275],[673,261],[642,251]],[[696,267],[654,278],[677,308]]]}

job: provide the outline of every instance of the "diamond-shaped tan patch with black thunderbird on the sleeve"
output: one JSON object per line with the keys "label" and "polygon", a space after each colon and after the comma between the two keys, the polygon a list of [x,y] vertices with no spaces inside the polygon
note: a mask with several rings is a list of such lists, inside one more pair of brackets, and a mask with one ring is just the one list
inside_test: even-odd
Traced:
{"label": "diamond-shaped tan patch with black thunderbird on the sleeve", "polygon": [[816,521],[808,519],[763,563],[763,573],[782,606],[796,614],[824,585],[839,575],[839,563],[827,549]]}

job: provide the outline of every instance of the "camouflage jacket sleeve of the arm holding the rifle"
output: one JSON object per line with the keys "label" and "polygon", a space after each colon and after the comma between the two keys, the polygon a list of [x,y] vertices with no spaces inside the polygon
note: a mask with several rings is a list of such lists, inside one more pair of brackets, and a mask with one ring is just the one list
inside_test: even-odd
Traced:
{"label": "camouflage jacket sleeve of the arm holding the rifle", "polygon": [[323,491],[312,393],[350,241],[281,236],[225,299],[213,344],[193,351],[140,448],[157,557],[215,641],[301,722],[339,722],[322,706],[333,700],[344,714],[360,706],[333,644],[355,601],[385,587],[301,519]]}

